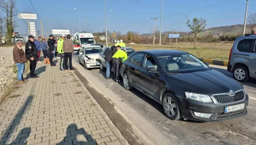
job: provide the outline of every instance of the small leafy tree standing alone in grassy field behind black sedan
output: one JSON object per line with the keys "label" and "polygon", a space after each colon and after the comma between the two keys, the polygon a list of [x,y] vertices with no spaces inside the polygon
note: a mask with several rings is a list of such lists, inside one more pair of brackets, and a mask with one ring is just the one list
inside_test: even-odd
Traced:
{"label": "small leafy tree standing alone in grassy field behind black sedan", "polygon": [[197,34],[202,32],[202,30],[205,28],[206,26],[206,20],[200,18],[194,18],[193,21],[191,22],[188,17],[186,16],[186,25],[192,30],[191,32],[194,33],[195,35],[195,46],[196,47],[196,39],[197,39]]}

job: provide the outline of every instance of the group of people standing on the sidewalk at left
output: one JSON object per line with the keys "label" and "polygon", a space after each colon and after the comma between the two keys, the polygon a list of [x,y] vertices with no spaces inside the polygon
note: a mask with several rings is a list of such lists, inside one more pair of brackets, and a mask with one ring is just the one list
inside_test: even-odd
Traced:
{"label": "group of people standing on the sidewalk at left", "polygon": [[[42,39],[42,42],[39,42],[39,38],[36,38],[33,35],[28,36],[28,41],[25,46],[25,52],[21,48],[23,45],[22,40],[17,40],[15,46],[13,48],[13,61],[18,69],[18,81],[20,84],[25,84],[27,81],[23,77],[23,72],[25,70],[25,63],[30,61],[30,78],[38,78],[35,74],[36,64],[40,63],[40,53],[41,50],[43,51],[44,55],[44,64],[51,64],[51,66],[56,66],[53,62],[53,57],[55,54],[56,49],[56,40],[54,39],[53,35],[49,36],[48,41],[45,41],[45,38]],[[71,35],[62,35],[61,38],[58,40],[57,43],[57,52],[60,55],[61,62],[60,62],[60,70],[74,71],[72,68],[72,55],[74,54],[74,46],[71,39]],[[67,66],[67,61],[69,61],[69,70]],[[65,64],[65,69],[63,67]]]}

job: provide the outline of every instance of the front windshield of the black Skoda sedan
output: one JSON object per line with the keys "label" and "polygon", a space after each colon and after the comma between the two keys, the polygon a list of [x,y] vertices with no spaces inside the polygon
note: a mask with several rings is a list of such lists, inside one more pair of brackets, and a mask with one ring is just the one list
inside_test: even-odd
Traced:
{"label": "front windshield of the black Skoda sedan", "polygon": [[166,73],[189,73],[211,70],[193,55],[173,55],[157,57],[162,69]]}

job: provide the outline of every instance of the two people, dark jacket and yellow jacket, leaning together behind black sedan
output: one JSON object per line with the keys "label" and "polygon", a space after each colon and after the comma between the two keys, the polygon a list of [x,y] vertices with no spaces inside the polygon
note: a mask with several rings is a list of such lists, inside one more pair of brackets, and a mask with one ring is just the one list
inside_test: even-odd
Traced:
{"label": "two people, dark jacket and yellow jacket, leaning together behind black sedan", "polygon": [[126,49],[121,49],[120,45],[112,46],[110,49],[106,50],[103,54],[107,64],[106,79],[112,79],[110,77],[110,70],[113,67],[114,70],[114,80],[119,82],[119,70],[121,62],[127,59]]}

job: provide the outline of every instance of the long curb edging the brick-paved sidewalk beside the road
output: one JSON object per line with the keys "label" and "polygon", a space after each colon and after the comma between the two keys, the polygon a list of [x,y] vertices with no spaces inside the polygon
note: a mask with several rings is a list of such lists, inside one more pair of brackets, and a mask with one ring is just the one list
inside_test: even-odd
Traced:
{"label": "long curb edging the brick-paved sidewalk beside the road", "polygon": [[[73,65],[75,66],[75,65]],[[115,134],[115,136],[117,137],[118,141],[122,144],[122,145],[129,145],[127,140],[121,135],[121,133],[119,132],[118,128],[111,122],[111,120],[109,119],[108,115],[104,112],[104,110],[100,107],[100,105],[97,103],[97,101],[92,97],[92,95],[90,94],[90,92],[85,88],[85,86],[83,85],[83,83],[80,81],[80,79],[76,76],[76,74],[74,72],[71,72],[72,74],[74,74],[75,79],[79,80],[79,83],[82,84],[81,87],[83,89],[83,91],[85,92],[85,94],[90,97],[90,100],[92,101],[92,103],[96,104],[95,108],[97,108],[97,110],[99,111],[99,113],[101,114],[101,116],[104,118],[105,122],[108,124],[109,128],[111,129],[111,131]]]}

